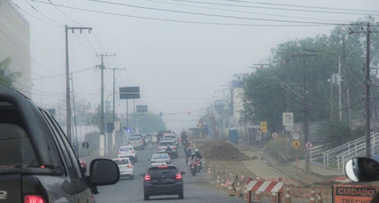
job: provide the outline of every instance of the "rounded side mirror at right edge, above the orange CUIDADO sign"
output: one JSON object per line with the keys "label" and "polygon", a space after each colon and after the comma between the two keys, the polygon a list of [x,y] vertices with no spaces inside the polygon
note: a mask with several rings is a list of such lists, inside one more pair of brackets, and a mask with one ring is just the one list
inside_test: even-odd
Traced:
{"label": "rounded side mirror at right edge, above the orange CUIDADO sign", "polygon": [[379,180],[379,163],[371,158],[358,157],[345,164],[345,174],[353,182]]}

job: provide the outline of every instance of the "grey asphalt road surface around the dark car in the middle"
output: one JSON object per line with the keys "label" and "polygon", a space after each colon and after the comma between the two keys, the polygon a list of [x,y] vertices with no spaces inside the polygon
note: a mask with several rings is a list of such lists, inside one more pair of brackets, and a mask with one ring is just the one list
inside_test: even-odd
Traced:
{"label": "grey asphalt road surface around the dark car in the middle", "polygon": [[[100,194],[95,195],[96,203],[235,203],[243,202],[239,198],[228,197],[225,192],[219,192],[210,185],[206,177],[206,169],[196,176],[189,173],[185,164],[183,146],[179,148],[179,158],[173,161],[178,164],[181,171],[186,172],[184,178],[184,200],[179,200],[177,195],[173,196],[151,196],[150,201],[144,201],[143,177],[149,165],[148,159],[156,153],[156,145],[149,145],[144,150],[137,150],[138,162],[134,165],[134,180],[122,178],[118,183],[109,186],[100,186]],[[213,180],[212,180],[213,181]]]}

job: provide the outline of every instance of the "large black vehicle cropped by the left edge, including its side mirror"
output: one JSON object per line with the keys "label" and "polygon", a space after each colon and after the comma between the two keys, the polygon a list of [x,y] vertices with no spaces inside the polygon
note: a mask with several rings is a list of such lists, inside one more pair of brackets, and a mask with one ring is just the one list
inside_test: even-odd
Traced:
{"label": "large black vehicle cropped by the left edge, including its side mirror", "polygon": [[[0,203],[94,203],[118,166],[95,159],[84,175],[56,120],[23,94],[0,88]],[[91,190],[92,189],[92,190]]]}

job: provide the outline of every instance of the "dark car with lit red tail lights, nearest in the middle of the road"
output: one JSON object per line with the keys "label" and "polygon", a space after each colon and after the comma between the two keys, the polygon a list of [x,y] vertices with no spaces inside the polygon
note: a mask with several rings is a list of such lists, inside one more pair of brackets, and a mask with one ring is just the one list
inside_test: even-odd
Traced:
{"label": "dark car with lit red tail lights, nearest in the middle of the road", "polygon": [[144,177],[144,200],[157,195],[179,195],[184,199],[184,172],[180,172],[176,165],[150,166]]}

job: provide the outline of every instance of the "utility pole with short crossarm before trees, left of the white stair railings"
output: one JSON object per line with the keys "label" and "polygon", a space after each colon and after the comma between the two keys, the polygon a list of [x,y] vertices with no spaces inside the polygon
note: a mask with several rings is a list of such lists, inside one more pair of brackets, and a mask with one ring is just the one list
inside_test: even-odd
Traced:
{"label": "utility pole with short crossarm before trees, left of the white stair railings", "polygon": [[[300,54],[300,55],[292,55],[291,57],[302,57],[303,58],[303,122],[304,122],[304,147],[308,142],[308,100],[307,100],[307,88],[306,88],[306,57],[314,57],[315,54]],[[310,156],[309,149],[305,149],[305,172],[308,173],[310,171]]]}

